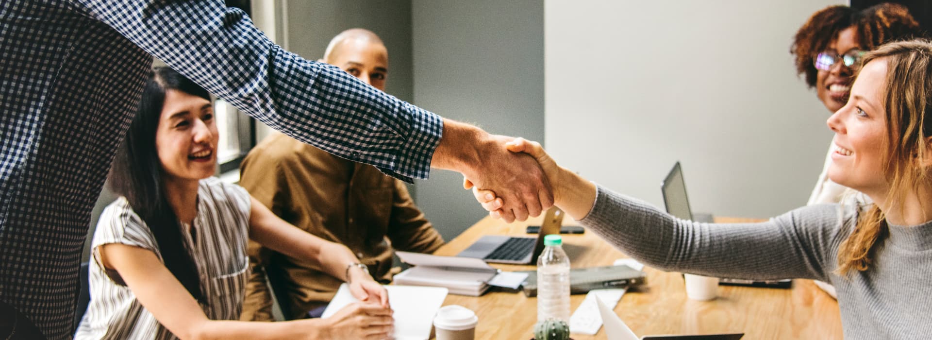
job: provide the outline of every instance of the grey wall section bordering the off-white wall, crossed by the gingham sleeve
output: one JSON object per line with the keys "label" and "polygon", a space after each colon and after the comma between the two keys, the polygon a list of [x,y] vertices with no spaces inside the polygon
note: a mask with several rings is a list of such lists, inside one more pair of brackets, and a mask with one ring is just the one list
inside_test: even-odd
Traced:
{"label": "grey wall section bordering the off-white wall, crossed by the gingham sleeve", "polygon": [[[543,140],[543,3],[413,0],[414,103],[492,133]],[[445,239],[486,216],[459,173],[433,170],[418,207]]]}

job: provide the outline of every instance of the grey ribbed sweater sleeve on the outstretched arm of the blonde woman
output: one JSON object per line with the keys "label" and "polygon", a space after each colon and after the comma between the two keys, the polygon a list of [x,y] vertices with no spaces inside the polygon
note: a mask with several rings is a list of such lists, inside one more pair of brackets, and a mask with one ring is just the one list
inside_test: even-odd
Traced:
{"label": "grey ribbed sweater sleeve on the outstretched arm of the blonde woman", "polygon": [[597,235],[658,269],[720,278],[828,280],[846,220],[838,204],[825,204],[758,224],[701,224],[597,191],[581,221]]}

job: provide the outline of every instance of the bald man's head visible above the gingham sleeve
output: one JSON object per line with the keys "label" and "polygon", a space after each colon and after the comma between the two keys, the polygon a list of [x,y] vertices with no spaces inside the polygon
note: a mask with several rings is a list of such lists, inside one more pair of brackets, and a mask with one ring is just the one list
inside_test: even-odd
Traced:
{"label": "bald man's head visible above the gingham sleeve", "polygon": [[372,31],[352,28],[330,40],[323,62],[335,65],[374,88],[385,90],[389,50]]}

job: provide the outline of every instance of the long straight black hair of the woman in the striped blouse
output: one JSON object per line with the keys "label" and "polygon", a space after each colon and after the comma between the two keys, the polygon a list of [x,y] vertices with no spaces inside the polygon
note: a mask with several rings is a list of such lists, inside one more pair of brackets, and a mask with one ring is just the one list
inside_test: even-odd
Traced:
{"label": "long straight black hair of the woman in the striped blouse", "polygon": [[198,267],[185,249],[181,223],[165,195],[161,163],[156,149],[156,131],[169,89],[211,100],[210,93],[168,67],[156,67],[145,84],[143,98],[126,138],[110,168],[110,187],[126,197],[130,208],[143,219],[156,237],[162,261],[187,292],[205,302],[200,291]]}

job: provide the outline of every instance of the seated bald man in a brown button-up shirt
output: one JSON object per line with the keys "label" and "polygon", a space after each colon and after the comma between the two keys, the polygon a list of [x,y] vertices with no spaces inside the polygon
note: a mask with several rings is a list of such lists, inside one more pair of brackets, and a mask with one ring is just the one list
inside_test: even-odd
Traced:
{"label": "seated bald man in a brown button-up shirt", "polygon": [[[321,61],[385,90],[388,49],[370,31],[337,34]],[[393,249],[433,252],[444,244],[404,183],[283,134],[267,137],[246,156],[240,185],[288,223],[345,244],[378,280],[391,280]],[[241,320],[272,320],[264,274],[288,320],[319,316],[342,282],[313,264],[254,242],[249,252],[253,274]]]}

